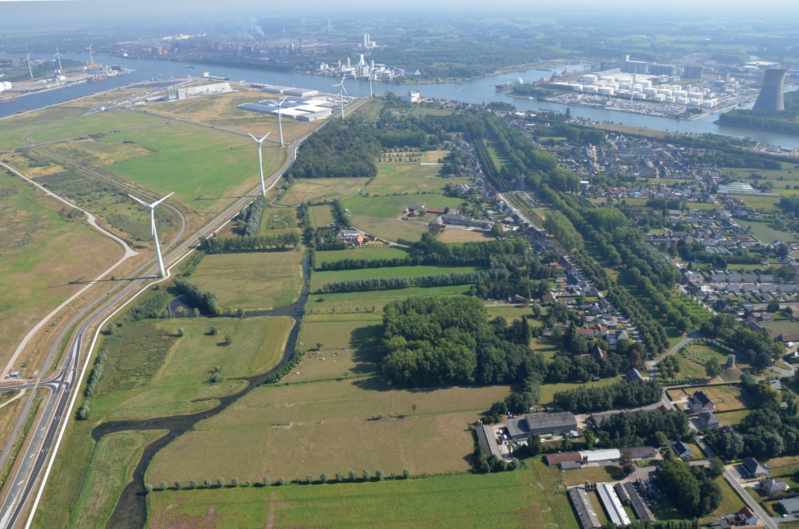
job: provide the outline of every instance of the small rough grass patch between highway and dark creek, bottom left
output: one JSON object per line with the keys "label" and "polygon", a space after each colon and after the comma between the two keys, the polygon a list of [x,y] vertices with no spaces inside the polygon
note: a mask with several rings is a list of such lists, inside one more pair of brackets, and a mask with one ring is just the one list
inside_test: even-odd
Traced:
{"label": "small rough grass patch between highway and dark creek, bottom left", "polygon": [[166,430],[117,432],[103,437],[91,457],[74,518],[69,527],[105,527],[122,490],[133,480],[145,447]]}

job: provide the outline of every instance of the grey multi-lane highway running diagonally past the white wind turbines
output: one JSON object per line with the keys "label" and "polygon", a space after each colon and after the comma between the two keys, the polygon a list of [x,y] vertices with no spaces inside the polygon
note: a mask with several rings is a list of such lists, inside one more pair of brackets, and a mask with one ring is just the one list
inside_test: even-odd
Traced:
{"label": "grey multi-lane highway running diagonally past the white wind turbines", "polygon": [[[358,107],[360,107],[360,105],[363,105],[367,101],[368,99],[356,101],[356,103],[350,105],[346,113],[352,113]],[[267,180],[268,189],[272,189],[283,173],[289,168],[290,165],[292,165],[296,159],[297,150],[302,142],[310,135],[311,133],[308,133],[289,145],[288,158],[284,162],[284,165],[282,165],[280,169],[273,173],[272,176]],[[70,165],[75,165],[80,169],[94,173],[91,171],[91,169],[87,169],[81,165],[75,164],[74,162],[61,157],[58,155],[58,153],[52,153],[52,151],[49,149],[46,150],[48,151],[48,154],[52,154],[55,157],[66,161],[66,163],[70,163]],[[105,177],[99,173],[95,174],[98,177],[111,180],[109,177]],[[120,185],[115,181],[113,183],[115,185]],[[123,187],[127,186],[123,185]],[[132,190],[140,195],[145,195],[145,193],[141,193],[137,189]],[[89,316],[86,316],[86,312],[93,307],[93,304],[90,304],[89,307],[86,307],[83,311],[78,313],[78,315],[74,316],[74,319],[70,321],[70,324],[66,325],[62,335],[59,335],[58,339],[53,344],[52,351],[55,351],[58,348],[58,345],[64,340],[67,329],[73,328],[74,324],[78,324],[78,322],[82,320],[79,327],[74,332],[74,335],[71,337],[69,348],[67,349],[68,353],[66,354],[60,372],[58,372],[56,376],[41,383],[36,382],[33,384],[15,384],[13,386],[2,388],[2,391],[10,391],[22,388],[35,389],[44,387],[50,389],[50,396],[47,397],[44,411],[38,420],[38,424],[36,424],[34,427],[35,429],[32,429],[33,433],[30,436],[30,442],[27,443],[24,453],[21,451],[18,455],[18,458],[23,458],[22,464],[20,464],[18,469],[12,473],[13,475],[9,476],[9,483],[11,483],[11,485],[8,487],[6,498],[3,500],[2,507],[0,507],[0,515],[2,515],[0,516],[0,529],[6,529],[6,527],[15,527],[15,525],[21,519],[20,517],[22,512],[30,502],[31,493],[38,491],[36,492],[34,503],[30,509],[30,515],[28,516],[24,527],[30,527],[30,524],[33,522],[34,515],[36,514],[36,508],[38,507],[38,502],[42,498],[42,493],[45,489],[47,479],[49,478],[50,471],[53,467],[55,455],[58,453],[58,447],[60,446],[62,437],[66,431],[66,424],[68,423],[66,419],[72,415],[75,402],[78,398],[79,392],[74,391],[74,389],[81,387],[83,377],[85,376],[85,372],[89,367],[89,360],[91,360],[92,356],[91,352],[93,351],[94,344],[97,342],[97,338],[103,325],[105,325],[108,320],[115,316],[117,312],[125,308],[125,306],[133,301],[136,296],[141,294],[141,292],[145,292],[146,288],[149,288],[151,284],[168,280],[172,274],[172,268],[183,258],[189,255],[189,253],[193,252],[196,246],[197,237],[210,237],[218,229],[221,229],[222,226],[227,224],[240,212],[244,205],[247,205],[249,202],[254,200],[256,193],[259,191],[260,185],[256,186],[250,194],[235,201],[233,205],[230,205],[228,209],[225,209],[224,212],[217,215],[217,217],[205,225],[205,227],[197,231],[197,233],[193,233],[191,237],[186,237],[181,244],[172,249],[164,259],[166,263],[170,263],[169,268],[167,268],[166,278],[151,281],[152,276],[157,272],[157,270],[156,267],[153,266],[152,261],[148,261],[148,264],[145,264],[139,268],[139,270],[134,272],[133,276],[138,277],[138,279],[131,280],[129,284],[126,284],[124,288],[121,288],[121,290],[111,296],[110,299],[105,300],[105,302],[101,304],[100,308],[97,308],[91,312]],[[147,195],[145,195],[145,197],[147,197]],[[181,227],[180,233],[175,239],[173,239],[173,241],[177,241],[178,238],[182,237],[185,229],[185,217],[183,217],[182,213],[180,213],[177,209],[175,209],[175,211],[177,211],[181,216],[183,225]],[[146,269],[146,273],[142,275],[140,271],[144,269]],[[99,300],[101,299],[102,298]],[[96,300],[95,304],[99,300]],[[92,328],[95,329],[93,332],[93,337],[91,338],[89,348],[86,352],[85,361],[81,366],[81,348],[83,347],[84,340],[88,339],[86,332]],[[49,364],[44,364],[44,368],[46,368],[47,365]],[[44,475],[42,477],[41,483],[38,483],[38,479],[40,475],[42,475],[42,470],[44,470]]]}

